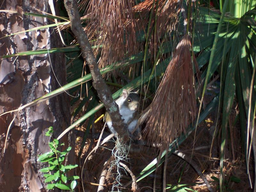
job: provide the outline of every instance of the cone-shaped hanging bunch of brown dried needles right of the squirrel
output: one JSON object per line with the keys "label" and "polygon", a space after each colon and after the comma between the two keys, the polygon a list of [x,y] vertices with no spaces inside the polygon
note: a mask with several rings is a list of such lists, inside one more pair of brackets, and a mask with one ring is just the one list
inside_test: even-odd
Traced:
{"label": "cone-shaped hanging bunch of brown dried needles right of the squirrel", "polygon": [[190,38],[183,36],[151,104],[145,129],[149,143],[166,149],[196,116],[195,79]]}

